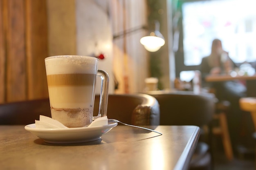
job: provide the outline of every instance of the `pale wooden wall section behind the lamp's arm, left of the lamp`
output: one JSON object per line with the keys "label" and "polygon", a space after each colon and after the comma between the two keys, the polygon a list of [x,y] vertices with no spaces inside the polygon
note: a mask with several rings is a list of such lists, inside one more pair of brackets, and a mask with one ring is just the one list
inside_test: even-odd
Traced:
{"label": "pale wooden wall section behind the lamp's arm, left of the lamp", "polygon": [[[112,0],[110,16],[113,34],[147,25],[146,0]],[[140,29],[113,41],[114,72],[119,81],[116,93],[137,93],[144,90],[148,77],[148,52],[139,40],[147,33]]]}

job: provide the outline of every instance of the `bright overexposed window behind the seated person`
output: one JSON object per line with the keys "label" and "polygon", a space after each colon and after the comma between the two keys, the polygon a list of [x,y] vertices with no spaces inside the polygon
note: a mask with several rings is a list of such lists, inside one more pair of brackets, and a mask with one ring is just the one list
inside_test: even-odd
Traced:
{"label": "bright overexposed window behind the seated person", "polygon": [[236,63],[256,61],[256,1],[203,0],[182,4],[184,65],[199,65],[214,38]]}

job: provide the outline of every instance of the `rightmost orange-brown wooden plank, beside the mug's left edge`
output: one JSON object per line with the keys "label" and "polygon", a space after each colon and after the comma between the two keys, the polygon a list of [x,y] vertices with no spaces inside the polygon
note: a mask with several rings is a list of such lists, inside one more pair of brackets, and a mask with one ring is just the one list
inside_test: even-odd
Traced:
{"label": "rightmost orange-brown wooden plank, beside the mug's left edge", "polygon": [[28,99],[48,97],[44,60],[48,57],[46,16],[45,1],[26,0]]}

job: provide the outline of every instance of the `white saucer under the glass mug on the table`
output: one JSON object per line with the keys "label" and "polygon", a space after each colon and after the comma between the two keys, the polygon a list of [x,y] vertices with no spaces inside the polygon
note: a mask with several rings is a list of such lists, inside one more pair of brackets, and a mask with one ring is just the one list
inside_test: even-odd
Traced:
{"label": "white saucer under the glass mug on the table", "polygon": [[117,123],[82,128],[47,129],[36,128],[35,124],[29,124],[25,126],[25,130],[33,133],[47,143],[71,144],[98,140],[115,126],[117,126]]}

